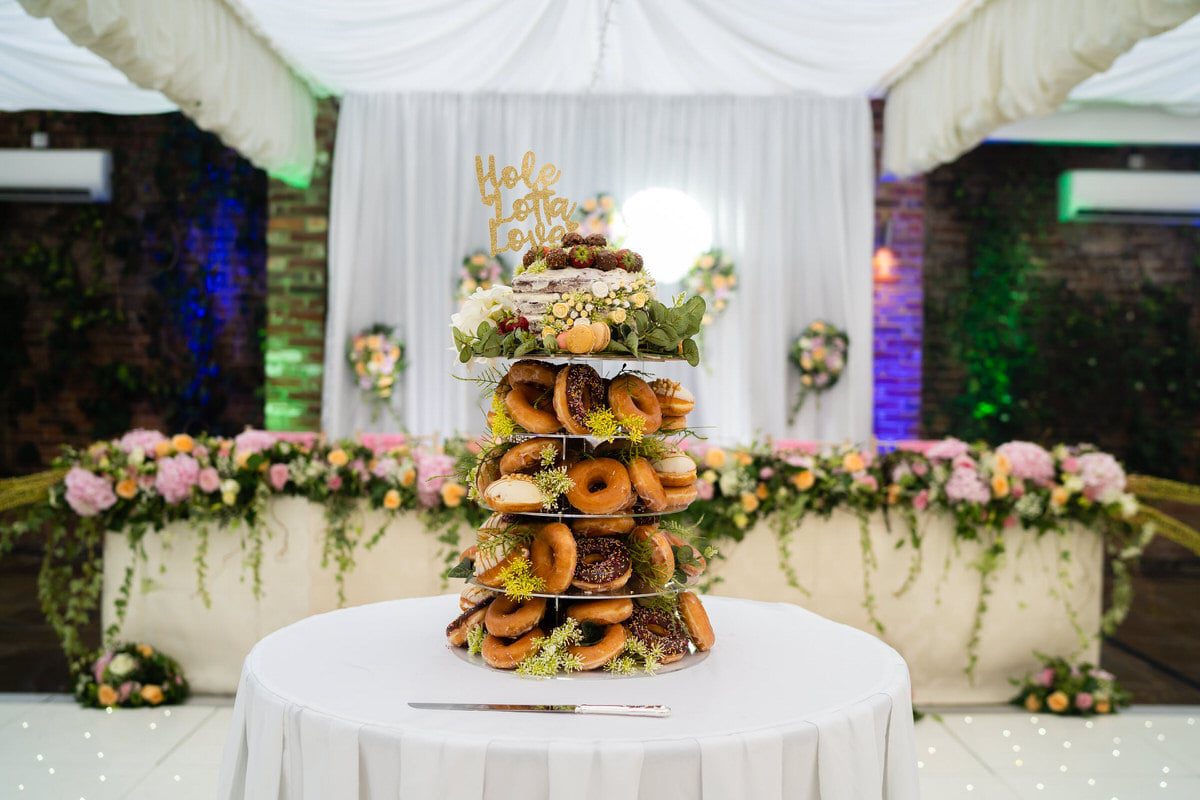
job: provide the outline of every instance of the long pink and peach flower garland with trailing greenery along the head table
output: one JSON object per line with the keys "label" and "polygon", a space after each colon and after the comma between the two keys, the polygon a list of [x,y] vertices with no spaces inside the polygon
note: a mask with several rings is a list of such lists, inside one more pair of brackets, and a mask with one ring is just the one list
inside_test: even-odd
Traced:
{"label": "long pink and peach flower garland with trailing greenery along the head table", "polygon": [[[131,549],[139,553],[144,536],[187,519],[197,530],[196,579],[202,597],[206,597],[208,540],[215,530],[240,537],[248,582],[256,595],[262,593],[263,521],[275,497],[302,497],[323,506],[323,557],[336,571],[338,587],[358,554],[379,541],[386,523],[402,513],[421,516],[443,543],[449,565],[460,549],[460,531],[474,530],[486,517],[464,501],[480,451],[479,441],[463,438],[425,441],[397,434],[325,441],[314,434],[263,431],[232,439],[132,431],[83,450],[65,450],[55,462],[64,477],[46,481],[49,488],[41,499],[11,511],[11,524],[0,525],[0,555],[23,535],[43,537],[42,610],[67,655],[85,658],[90,652],[79,628],[98,606],[106,531],[124,531]],[[985,546],[984,555],[972,564],[980,575],[980,594],[968,675],[990,576],[1003,563],[1006,534],[1061,531],[1078,523],[1103,536],[1114,575],[1112,603],[1103,618],[1108,632],[1132,602],[1129,564],[1160,530],[1156,517],[1128,492],[1117,461],[1086,445],[1046,450],[1010,441],[991,449],[946,439],[923,450],[880,452],[850,444],[814,449],[756,443],[722,449],[701,443],[689,452],[697,463],[698,499],[682,522],[702,523],[695,542],[701,552],[721,540],[740,540],[764,523],[776,535],[780,569],[800,591],[805,589],[790,564],[796,529],[812,513],[853,513],[862,530],[864,608],[880,631],[870,515],[886,515],[896,545],[912,549],[900,594],[922,570],[919,515],[949,515],[959,537]],[[364,509],[383,512],[384,523],[365,530]],[[124,576],[109,639],[119,632],[134,569],[138,561]],[[1081,642],[1094,636],[1082,630],[1067,603],[1064,613]]]}

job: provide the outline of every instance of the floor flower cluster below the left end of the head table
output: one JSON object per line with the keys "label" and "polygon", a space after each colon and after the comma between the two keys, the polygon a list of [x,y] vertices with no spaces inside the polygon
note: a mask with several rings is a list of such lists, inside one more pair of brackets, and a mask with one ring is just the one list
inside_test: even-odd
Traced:
{"label": "floor flower cluster below the left end of the head table", "polygon": [[179,662],[149,644],[116,644],[76,676],[76,699],[95,709],[175,705],[187,693]]}

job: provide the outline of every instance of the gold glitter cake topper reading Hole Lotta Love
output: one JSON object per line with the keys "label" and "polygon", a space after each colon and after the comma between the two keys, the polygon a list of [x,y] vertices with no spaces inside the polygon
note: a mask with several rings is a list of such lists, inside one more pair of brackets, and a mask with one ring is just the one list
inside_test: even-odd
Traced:
{"label": "gold glitter cake topper reading Hole Lotta Love", "polygon": [[[575,203],[556,197],[551,188],[563,176],[563,170],[547,162],[535,176],[536,164],[538,157],[530,150],[521,157],[520,168],[509,166],[499,173],[496,172],[496,156],[488,156],[487,172],[484,172],[484,157],[475,156],[479,197],[492,210],[492,218],[487,221],[492,255],[504,251],[520,253],[542,245],[558,246],[563,243],[563,236],[580,227],[571,221]],[[504,190],[515,190],[520,185],[529,191],[524,197],[512,198],[511,210],[505,215]],[[497,247],[496,240],[503,225],[512,227],[508,229],[504,246]]]}

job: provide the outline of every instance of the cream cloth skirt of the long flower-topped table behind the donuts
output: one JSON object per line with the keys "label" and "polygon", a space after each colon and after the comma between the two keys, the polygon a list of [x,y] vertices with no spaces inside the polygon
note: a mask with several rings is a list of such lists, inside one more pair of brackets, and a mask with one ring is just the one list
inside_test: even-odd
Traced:
{"label": "cream cloth skirt of the long flower-topped table behind the donuts", "polygon": [[[264,518],[270,540],[263,559],[264,596],[256,601],[245,579],[236,531],[214,529],[209,543],[209,590],[205,608],[196,591],[196,534],[186,523],[146,536],[150,559],[130,597],[125,639],[144,640],[178,657],[192,686],[202,692],[233,692],[242,661],[253,644],[311,614],[337,606],[334,571],[320,566],[325,528],[323,509],[298,498],[272,500]],[[367,534],[385,521],[365,516]],[[895,521],[893,521],[895,523]],[[874,515],[870,540],[878,567],[871,583],[882,638],[907,660],[917,704],[996,703],[1012,696],[1009,678],[1037,668],[1033,655],[1068,654],[1080,646],[1066,607],[1084,631],[1099,627],[1103,587],[1100,536],[1081,527],[1063,535],[1030,531],[1004,534],[1007,554],[992,576],[992,595],[980,631],[976,681],[967,680],[967,642],[979,573],[971,564],[980,546],[954,537],[946,515],[923,515],[924,567],[912,588],[896,596],[908,573],[913,551],[896,548],[902,534],[889,531]],[[466,540],[470,531],[463,531]],[[725,558],[712,569],[721,578],[714,593],[750,600],[787,601],[822,616],[871,631],[863,609],[863,558],[858,522],[852,515],[806,519],[794,533],[791,563],[811,593],[787,585],[779,567],[775,534],[766,525],[746,531],[742,542],[724,542]],[[370,552],[358,552],[358,566],[347,576],[347,604],[420,597],[450,591],[443,584],[440,547],[415,515],[389,523],[386,535]],[[1070,560],[1060,558],[1070,553]],[[114,616],[118,587],[132,553],[124,535],[104,543],[104,625]],[[163,569],[160,570],[160,566]],[[1062,570],[1067,581],[1058,579]],[[931,620],[935,624],[931,624]],[[1096,662],[1098,642],[1078,657]]]}

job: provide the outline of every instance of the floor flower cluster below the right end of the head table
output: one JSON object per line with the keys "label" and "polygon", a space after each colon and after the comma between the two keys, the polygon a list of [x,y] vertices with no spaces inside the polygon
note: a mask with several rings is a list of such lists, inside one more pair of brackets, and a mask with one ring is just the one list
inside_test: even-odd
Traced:
{"label": "floor flower cluster below the right end of the head table", "polygon": [[1072,666],[1066,658],[1036,654],[1044,663],[1040,670],[1014,680],[1019,687],[1013,705],[1037,714],[1049,711],[1062,716],[1116,714],[1129,705],[1130,696],[1116,676],[1090,663]]}

